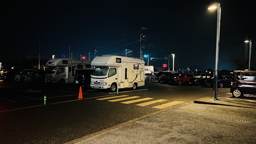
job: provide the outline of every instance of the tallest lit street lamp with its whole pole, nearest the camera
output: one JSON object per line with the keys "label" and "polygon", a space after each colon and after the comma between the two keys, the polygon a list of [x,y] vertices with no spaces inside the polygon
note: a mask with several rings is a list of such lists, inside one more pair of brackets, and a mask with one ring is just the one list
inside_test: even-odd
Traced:
{"label": "tallest lit street lamp with its whole pole, nearest the camera", "polygon": [[[215,9],[217,7],[210,7],[210,9]],[[214,100],[217,100],[218,92],[218,62],[219,62],[219,44],[220,44],[220,4],[218,4],[217,11],[217,34],[216,34],[216,56],[215,56],[215,76],[214,76]]]}

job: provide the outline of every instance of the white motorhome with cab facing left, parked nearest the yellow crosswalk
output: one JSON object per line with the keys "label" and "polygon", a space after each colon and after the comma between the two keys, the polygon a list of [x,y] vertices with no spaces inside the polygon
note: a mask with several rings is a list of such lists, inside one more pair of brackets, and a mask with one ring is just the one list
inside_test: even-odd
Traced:
{"label": "white motorhome with cab facing left, parked nearest the yellow crosswalk", "polygon": [[132,88],[143,86],[144,64],[140,58],[115,55],[102,55],[92,60],[95,69],[91,75],[91,87],[94,89]]}

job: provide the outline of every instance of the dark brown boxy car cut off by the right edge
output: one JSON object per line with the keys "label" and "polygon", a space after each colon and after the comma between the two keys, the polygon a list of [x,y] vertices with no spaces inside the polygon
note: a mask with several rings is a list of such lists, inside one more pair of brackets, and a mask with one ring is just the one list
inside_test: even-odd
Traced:
{"label": "dark brown boxy car cut off by the right edge", "polygon": [[256,97],[256,71],[235,70],[233,72],[230,92],[234,97]]}

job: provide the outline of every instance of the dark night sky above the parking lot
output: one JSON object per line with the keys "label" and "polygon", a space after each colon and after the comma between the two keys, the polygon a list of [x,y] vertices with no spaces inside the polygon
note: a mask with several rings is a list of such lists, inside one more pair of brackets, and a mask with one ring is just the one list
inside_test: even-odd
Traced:
{"label": "dark night sky above the parking lot", "polygon": [[[180,1],[3,1],[0,62],[26,55],[51,59],[68,52],[88,59],[114,54],[164,58],[175,54],[175,68],[215,69],[217,9],[221,4],[219,70],[236,69],[232,58],[245,57],[245,37],[252,40],[251,67],[256,68],[255,0]],[[249,47],[249,46],[248,46]],[[145,59],[145,63],[148,60]],[[168,60],[149,60],[162,67]],[[172,57],[170,60],[172,69]]]}

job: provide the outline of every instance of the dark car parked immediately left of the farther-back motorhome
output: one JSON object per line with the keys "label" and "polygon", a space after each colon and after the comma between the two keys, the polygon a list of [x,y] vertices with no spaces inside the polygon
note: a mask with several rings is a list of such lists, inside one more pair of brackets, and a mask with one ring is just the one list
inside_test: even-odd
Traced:
{"label": "dark car parked immediately left of the farther-back motorhome", "polygon": [[34,71],[31,75],[25,76],[25,82],[31,83],[44,83],[45,82],[45,71],[39,70]]}

